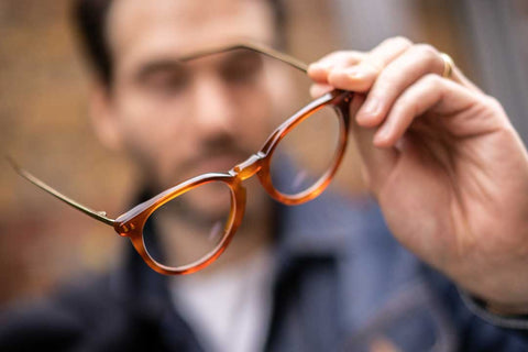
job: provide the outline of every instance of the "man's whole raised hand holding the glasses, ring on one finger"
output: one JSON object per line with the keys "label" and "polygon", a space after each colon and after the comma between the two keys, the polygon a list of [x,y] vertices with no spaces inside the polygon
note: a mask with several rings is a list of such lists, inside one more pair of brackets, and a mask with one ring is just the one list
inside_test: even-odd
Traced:
{"label": "man's whole raised hand holding the glasses, ring on one finger", "polygon": [[528,153],[501,105],[429,45],[391,38],[312,64],[351,103],[370,189],[394,235],[504,314],[528,312]]}

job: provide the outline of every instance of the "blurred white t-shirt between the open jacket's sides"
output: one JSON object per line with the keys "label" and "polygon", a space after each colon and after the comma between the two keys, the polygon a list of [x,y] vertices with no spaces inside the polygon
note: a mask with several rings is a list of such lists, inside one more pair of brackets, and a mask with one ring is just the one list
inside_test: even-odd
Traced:
{"label": "blurred white t-shirt between the open jacket's sides", "polygon": [[272,264],[266,249],[218,273],[173,279],[173,301],[208,351],[263,349],[271,319]]}

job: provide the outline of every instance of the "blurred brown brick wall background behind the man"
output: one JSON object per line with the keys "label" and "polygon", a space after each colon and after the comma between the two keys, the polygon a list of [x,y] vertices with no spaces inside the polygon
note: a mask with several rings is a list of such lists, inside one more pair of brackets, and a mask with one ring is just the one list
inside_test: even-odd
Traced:
{"label": "blurred brown brick wall background behind the man", "polygon": [[[528,1],[288,0],[287,51],[310,62],[341,48],[370,50],[405,35],[449,53],[497,97],[528,139]],[[0,1],[0,150],[96,210],[128,209],[135,177],[105,151],[88,119],[89,75],[70,23],[70,1]],[[103,272],[123,239],[0,166],[0,305]],[[364,193],[349,147],[334,187]]]}

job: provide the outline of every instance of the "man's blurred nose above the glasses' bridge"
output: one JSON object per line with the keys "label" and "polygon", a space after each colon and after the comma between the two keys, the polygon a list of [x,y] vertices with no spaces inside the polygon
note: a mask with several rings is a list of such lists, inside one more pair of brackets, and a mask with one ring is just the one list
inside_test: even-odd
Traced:
{"label": "man's blurred nose above the glasses' bridge", "polygon": [[205,138],[233,134],[237,107],[229,88],[213,77],[204,77],[195,85],[194,124]]}

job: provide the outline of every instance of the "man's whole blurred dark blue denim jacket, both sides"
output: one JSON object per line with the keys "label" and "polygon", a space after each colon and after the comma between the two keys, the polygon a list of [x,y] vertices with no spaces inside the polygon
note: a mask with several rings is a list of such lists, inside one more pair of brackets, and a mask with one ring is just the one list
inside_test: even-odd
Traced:
{"label": "man's whole blurred dark blue denim jacket, both sides", "polygon": [[[396,242],[370,198],[276,209],[265,351],[528,351],[527,320],[486,316]],[[204,351],[131,246],[110,275],[0,319],[1,351]]]}

